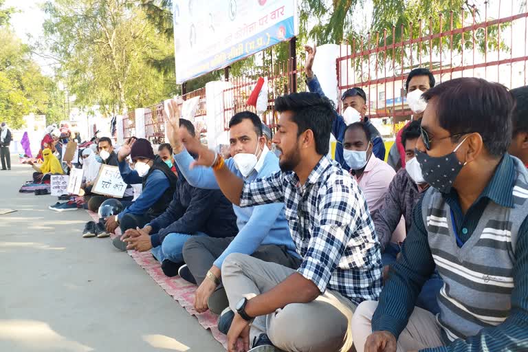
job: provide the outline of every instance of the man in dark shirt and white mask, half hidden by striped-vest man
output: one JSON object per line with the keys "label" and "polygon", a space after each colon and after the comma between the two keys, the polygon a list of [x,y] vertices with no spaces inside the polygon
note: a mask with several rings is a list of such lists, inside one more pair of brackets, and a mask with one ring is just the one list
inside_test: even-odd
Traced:
{"label": "man in dark shirt and white mask, half hidden by striped-vest man", "polygon": [[[395,263],[406,233],[412,225],[412,209],[415,208],[423,192],[429,185],[421,175],[420,164],[415,157],[415,149],[420,137],[420,122],[412,121],[401,133],[401,144],[405,146],[406,167],[401,168],[388,186],[382,206],[371,212],[377,239],[382,245],[384,274],[388,265]],[[404,222],[401,221],[404,217]],[[442,279],[435,272],[423,285],[416,305],[430,311],[439,312],[436,295],[442,287]]]}

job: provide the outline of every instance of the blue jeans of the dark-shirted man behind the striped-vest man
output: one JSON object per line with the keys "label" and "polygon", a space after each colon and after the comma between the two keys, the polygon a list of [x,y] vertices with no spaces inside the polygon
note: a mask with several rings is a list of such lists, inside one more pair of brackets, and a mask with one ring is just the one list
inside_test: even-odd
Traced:
{"label": "blue jeans of the dark-shirted man behind the striped-vest man", "polygon": [[[400,251],[399,245],[396,243],[388,243],[385,248],[385,252],[382,253],[383,266],[391,265],[396,262],[396,256]],[[443,280],[438,274],[438,270],[434,269],[426,283],[421,287],[421,292],[416,300],[416,306],[430,311],[432,314],[440,313],[440,307],[438,306],[437,294],[443,286]]]}

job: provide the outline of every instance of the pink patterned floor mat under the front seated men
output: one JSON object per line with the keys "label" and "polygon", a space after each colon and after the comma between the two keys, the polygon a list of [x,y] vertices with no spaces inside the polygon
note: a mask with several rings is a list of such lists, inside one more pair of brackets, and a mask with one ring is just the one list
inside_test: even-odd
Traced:
{"label": "pink patterned floor mat under the front seated men", "polygon": [[[94,221],[98,221],[98,214],[96,212],[91,212],[89,210],[87,211]],[[121,235],[119,228],[115,232],[116,234],[111,235],[112,239],[115,236]],[[205,329],[209,329],[212,333],[212,337],[220,342],[225,349],[227,349],[227,336],[221,333],[217,328],[218,316],[216,314],[210,313],[210,311],[206,311],[203,314],[199,314],[197,311],[195,311],[194,298],[195,291],[197,289],[195,285],[188,283],[179,276],[173,278],[165,276],[165,274],[162,272],[161,265],[154,259],[150,251],[136,252],[129,250],[128,253],[135,260],[135,262],[139,264],[140,267],[142,267],[147,272],[147,274],[151,276],[151,278],[153,278],[157,285],[161,286],[162,289],[164,289],[169,296],[173,297],[177,303],[181,305],[181,307],[184,307],[189,314],[195,316],[198,319],[200,325]]]}

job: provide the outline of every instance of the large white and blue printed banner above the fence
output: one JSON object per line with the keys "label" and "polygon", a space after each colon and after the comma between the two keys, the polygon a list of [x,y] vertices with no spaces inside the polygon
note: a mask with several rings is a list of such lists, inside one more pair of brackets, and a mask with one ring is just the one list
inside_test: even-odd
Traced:
{"label": "large white and blue printed banner above the fence", "polygon": [[181,84],[298,34],[296,0],[173,1]]}

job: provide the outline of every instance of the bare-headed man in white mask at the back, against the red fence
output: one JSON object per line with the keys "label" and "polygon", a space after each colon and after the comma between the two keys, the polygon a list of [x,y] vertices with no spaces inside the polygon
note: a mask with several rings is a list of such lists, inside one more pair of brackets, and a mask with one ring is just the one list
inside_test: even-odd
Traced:
{"label": "bare-headed man in white mask at the back, against the red fence", "polygon": [[[421,95],[423,92],[434,87],[434,83],[434,76],[428,69],[420,67],[409,72],[405,83],[405,91],[407,92],[407,104],[412,111],[411,121],[419,120],[423,115],[423,111],[425,111],[427,107],[427,102],[421,98]],[[410,122],[408,122],[405,127],[407,127],[409,123]],[[403,144],[401,144],[401,133],[403,130],[404,129],[400,129],[398,131],[396,134],[396,141],[388,152],[387,164],[391,165],[396,171],[400,168],[404,168],[406,164],[406,153]]]}

